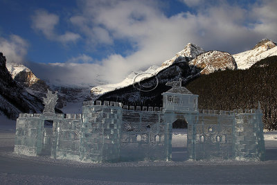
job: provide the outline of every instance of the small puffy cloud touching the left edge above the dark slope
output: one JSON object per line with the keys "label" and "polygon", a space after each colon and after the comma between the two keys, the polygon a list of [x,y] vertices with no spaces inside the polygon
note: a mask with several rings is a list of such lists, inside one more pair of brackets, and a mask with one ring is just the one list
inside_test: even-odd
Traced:
{"label": "small puffy cloud touching the left edge above the dark slope", "polygon": [[24,62],[27,51],[28,42],[18,35],[10,35],[9,39],[0,37],[0,52],[6,56],[7,62]]}

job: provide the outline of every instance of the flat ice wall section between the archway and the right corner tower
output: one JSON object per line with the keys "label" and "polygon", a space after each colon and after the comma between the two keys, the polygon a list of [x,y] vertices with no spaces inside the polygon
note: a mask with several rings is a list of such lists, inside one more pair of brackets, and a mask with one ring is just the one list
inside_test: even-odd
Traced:
{"label": "flat ice wall section between the archway and the right corner tower", "polygon": [[195,124],[194,159],[233,159],[233,112],[199,111]]}

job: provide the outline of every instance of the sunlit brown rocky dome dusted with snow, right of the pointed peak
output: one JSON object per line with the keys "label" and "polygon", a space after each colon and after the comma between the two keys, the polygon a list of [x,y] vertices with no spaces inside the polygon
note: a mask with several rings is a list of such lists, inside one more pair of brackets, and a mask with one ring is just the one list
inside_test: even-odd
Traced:
{"label": "sunlit brown rocky dome dusted with snow, right of the pointed peak", "polygon": [[238,69],[232,55],[222,51],[202,53],[188,63],[202,69],[202,74],[213,73],[218,69]]}

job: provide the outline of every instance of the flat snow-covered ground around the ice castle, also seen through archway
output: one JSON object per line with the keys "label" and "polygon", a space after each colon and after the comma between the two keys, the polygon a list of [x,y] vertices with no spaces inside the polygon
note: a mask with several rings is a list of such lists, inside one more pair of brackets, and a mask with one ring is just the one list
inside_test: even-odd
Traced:
{"label": "flat snow-covered ground around the ice castle, also seen through archway", "polygon": [[188,161],[186,130],[173,130],[172,161],[88,164],[12,153],[15,121],[0,116],[1,184],[276,184],[277,132],[265,161]]}

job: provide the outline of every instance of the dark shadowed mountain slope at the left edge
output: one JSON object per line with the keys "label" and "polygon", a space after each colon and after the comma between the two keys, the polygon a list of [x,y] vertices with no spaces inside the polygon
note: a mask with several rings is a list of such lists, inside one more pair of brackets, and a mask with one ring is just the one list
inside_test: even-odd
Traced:
{"label": "dark shadowed mountain slope at the left edge", "polygon": [[39,113],[44,106],[37,97],[12,79],[6,68],[6,58],[0,53],[0,114],[17,118],[20,112]]}

